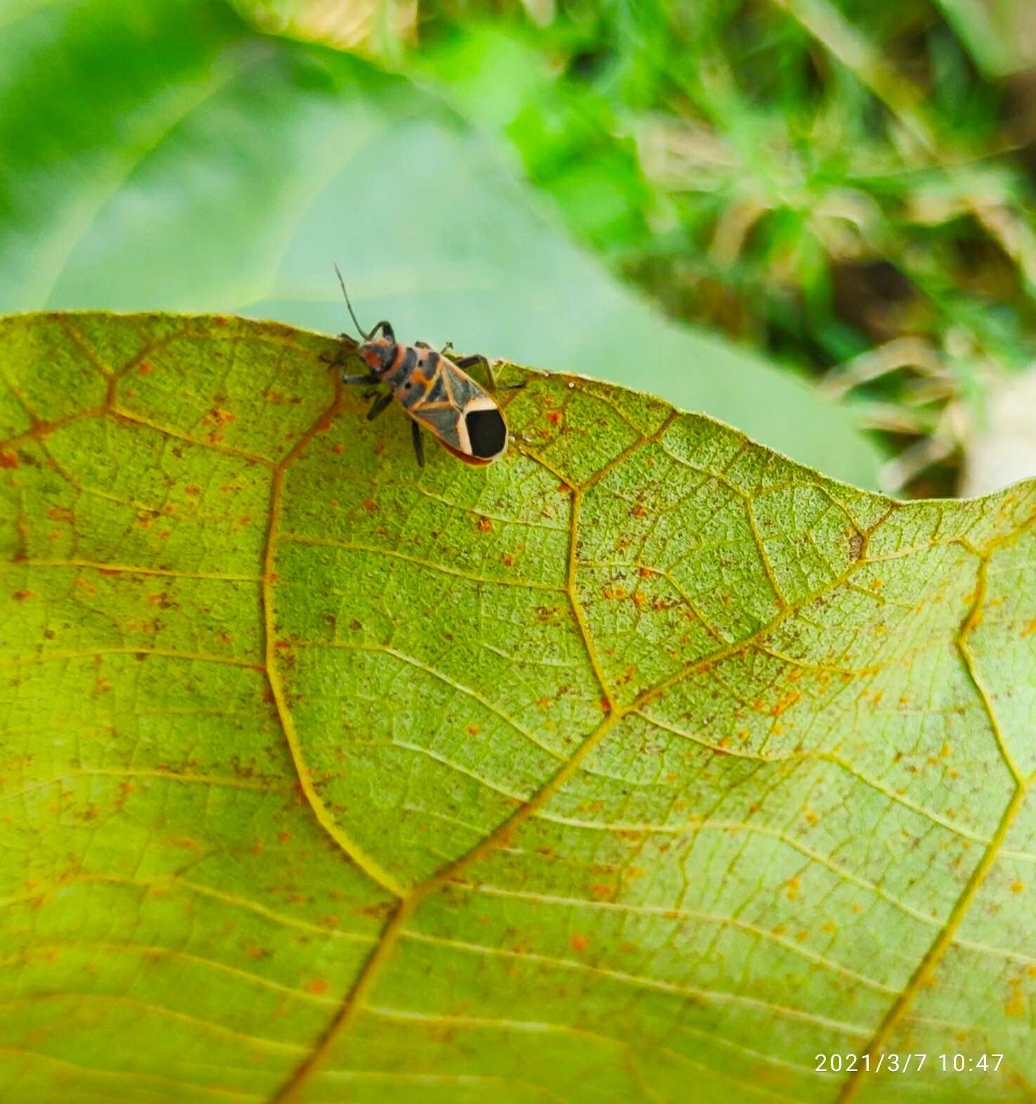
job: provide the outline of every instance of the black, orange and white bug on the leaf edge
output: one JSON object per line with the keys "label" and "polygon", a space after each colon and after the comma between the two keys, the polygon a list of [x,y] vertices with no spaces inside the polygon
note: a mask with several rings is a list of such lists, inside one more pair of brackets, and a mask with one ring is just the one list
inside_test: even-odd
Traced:
{"label": "black, orange and white bug on the leaf edge", "polygon": [[[338,265],[338,283],[346,297],[346,306],[352,322],[363,338],[353,350],[367,364],[362,375],[342,374],[343,383],[388,383],[390,391],[380,394],[367,412],[367,420],[378,417],[392,402],[398,400],[411,417],[414,453],[417,464],[424,467],[424,442],[422,428],[427,429],[447,452],[465,464],[484,466],[507,452],[507,423],[496,400],[476,383],[465,368],[484,364],[489,374],[490,388],[496,390],[496,379],[489,361],[482,355],[450,360],[444,353],[446,346],[436,352],[424,341],[412,346],[395,340],[392,326],[382,320],[364,330],[357,321],[349,302],[349,293],[341,278]],[[374,337],[378,331],[380,337]],[[351,338],[341,335],[342,339]],[[519,384],[521,386],[521,384]]]}

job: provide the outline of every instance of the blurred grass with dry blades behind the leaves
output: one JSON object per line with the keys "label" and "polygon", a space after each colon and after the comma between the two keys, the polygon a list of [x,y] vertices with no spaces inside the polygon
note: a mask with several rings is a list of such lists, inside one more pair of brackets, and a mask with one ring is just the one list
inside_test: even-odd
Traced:
{"label": "blurred grass with dry blades behind the leaves", "polygon": [[884,481],[952,493],[1034,355],[1029,0],[265,0],[503,138],[670,315],[863,407]]}

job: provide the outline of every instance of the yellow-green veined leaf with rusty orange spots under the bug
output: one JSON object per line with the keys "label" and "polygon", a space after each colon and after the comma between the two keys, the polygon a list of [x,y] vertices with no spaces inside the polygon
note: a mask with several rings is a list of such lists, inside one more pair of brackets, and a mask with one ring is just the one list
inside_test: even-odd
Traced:
{"label": "yellow-green veined leaf with rusty orange spots under the bug", "polygon": [[4,1100],[1028,1100],[1036,485],[512,365],[419,470],[339,351],[0,323]]}

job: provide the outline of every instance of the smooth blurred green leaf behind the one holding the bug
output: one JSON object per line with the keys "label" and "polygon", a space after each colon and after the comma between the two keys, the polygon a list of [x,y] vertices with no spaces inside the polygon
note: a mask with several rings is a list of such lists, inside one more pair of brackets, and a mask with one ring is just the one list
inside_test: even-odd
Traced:
{"label": "smooth blurred green leaf behind the one holding the bug", "polygon": [[[0,20],[2,20],[0,13]],[[877,486],[856,416],[667,322],[434,96],[216,0],[55,0],[0,35],[0,310],[225,310],[581,371]]]}

